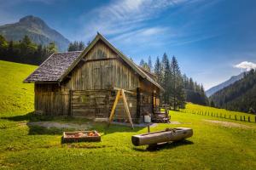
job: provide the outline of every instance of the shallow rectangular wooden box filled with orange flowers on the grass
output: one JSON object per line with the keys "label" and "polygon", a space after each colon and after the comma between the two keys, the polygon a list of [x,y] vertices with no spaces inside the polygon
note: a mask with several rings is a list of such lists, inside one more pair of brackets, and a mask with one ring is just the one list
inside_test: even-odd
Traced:
{"label": "shallow rectangular wooden box filled with orange flowers on the grass", "polygon": [[62,137],[62,143],[71,142],[100,142],[101,134],[96,131],[75,131],[64,132]]}

